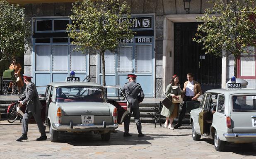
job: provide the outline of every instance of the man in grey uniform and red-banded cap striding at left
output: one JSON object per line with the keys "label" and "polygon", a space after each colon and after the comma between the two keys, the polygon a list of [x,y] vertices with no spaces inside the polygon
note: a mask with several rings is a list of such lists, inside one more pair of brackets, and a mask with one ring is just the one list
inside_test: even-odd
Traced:
{"label": "man in grey uniform and red-banded cap striding at left", "polygon": [[24,83],[26,83],[26,90],[25,96],[21,99],[22,101],[19,102],[19,107],[22,107],[23,104],[27,104],[26,111],[24,117],[22,119],[22,136],[18,138],[16,141],[27,140],[27,133],[28,133],[28,121],[29,119],[34,116],[36,120],[36,124],[39,128],[41,133],[41,137],[37,138],[37,141],[46,140],[47,136],[45,133],[45,126],[43,126],[43,122],[41,121],[41,109],[43,108],[38,93],[36,90],[36,86],[34,83],[31,82],[31,76],[23,74]]}

